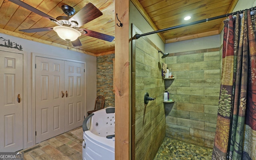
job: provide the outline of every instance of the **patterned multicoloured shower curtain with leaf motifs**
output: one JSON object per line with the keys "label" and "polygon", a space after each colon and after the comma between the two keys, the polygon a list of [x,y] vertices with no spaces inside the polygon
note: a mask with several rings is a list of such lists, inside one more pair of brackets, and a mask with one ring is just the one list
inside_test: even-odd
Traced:
{"label": "patterned multicoloured shower curtain with leaf motifs", "polygon": [[256,15],[234,17],[224,21],[212,160],[256,160]]}

